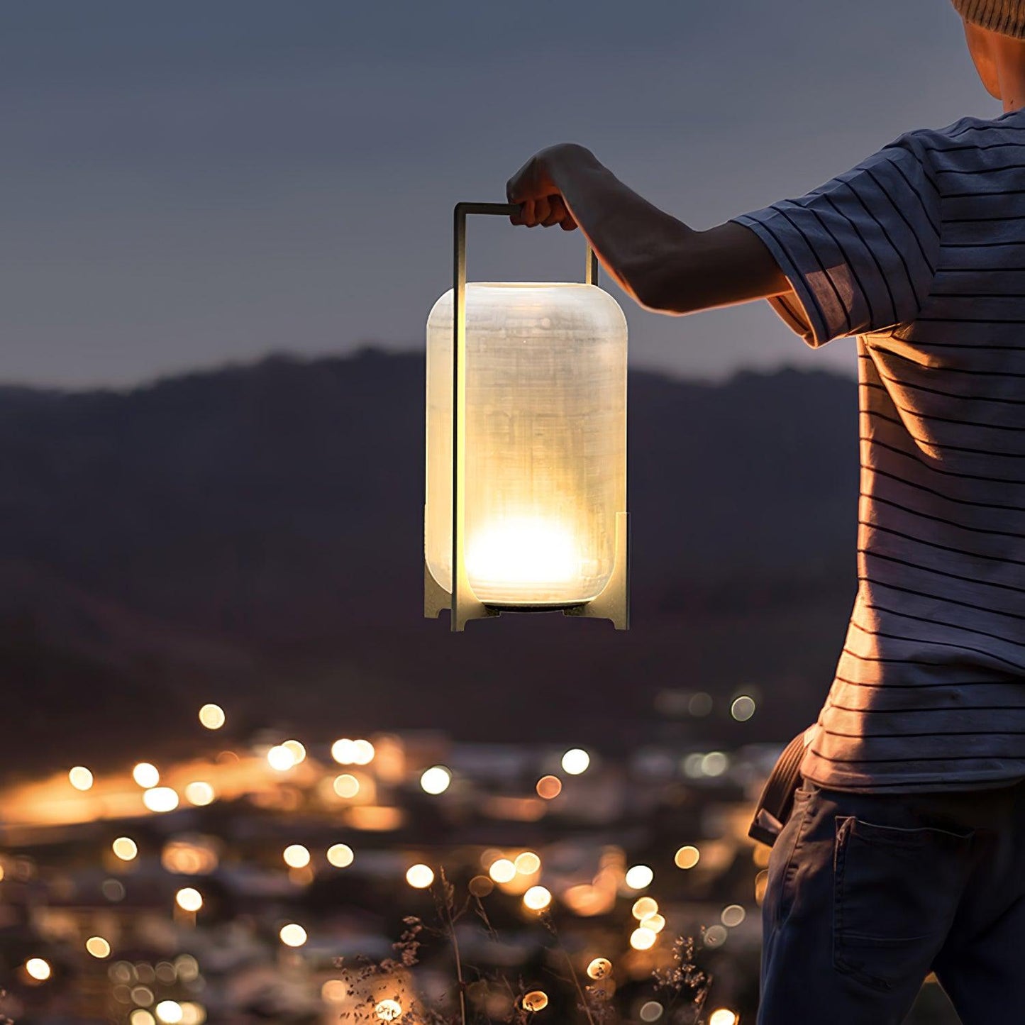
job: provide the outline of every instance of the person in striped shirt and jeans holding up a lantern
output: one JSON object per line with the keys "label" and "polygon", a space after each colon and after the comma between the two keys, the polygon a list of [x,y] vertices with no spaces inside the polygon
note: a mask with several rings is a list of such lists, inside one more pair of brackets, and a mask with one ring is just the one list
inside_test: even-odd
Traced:
{"label": "person in striped shirt and jeans holding up a lantern", "polygon": [[953,4],[999,117],[708,231],[578,145],[506,190],[649,310],[857,336],[858,590],[770,859],[761,1025],[898,1023],[930,972],[966,1025],[1025,1021],[1025,0]]}

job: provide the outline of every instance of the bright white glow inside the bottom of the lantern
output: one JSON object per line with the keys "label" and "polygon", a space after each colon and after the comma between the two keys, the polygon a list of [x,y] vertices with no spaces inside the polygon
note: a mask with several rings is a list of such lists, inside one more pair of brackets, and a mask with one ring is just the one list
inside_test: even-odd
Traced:
{"label": "bright white glow inside the bottom of the lantern", "polygon": [[542,517],[504,517],[466,541],[466,572],[485,590],[564,589],[580,576],[582,559],[573,530]]}

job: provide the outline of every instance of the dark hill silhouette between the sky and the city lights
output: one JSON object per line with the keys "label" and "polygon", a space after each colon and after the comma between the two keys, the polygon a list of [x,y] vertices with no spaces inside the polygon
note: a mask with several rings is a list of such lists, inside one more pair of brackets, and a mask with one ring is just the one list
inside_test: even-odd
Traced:
{"label": "dark hill silhouette between the sky and the city lights", "polygon": [[[848,377],[634,371],[631,630],[503,615],[453,636],[421,616],[422,356],[0,388],[8,771],[191,749],[207,700],[239,739],[783,739],[854,598],[857,445]],[[758,710],[736,724],[741,692]]]}

